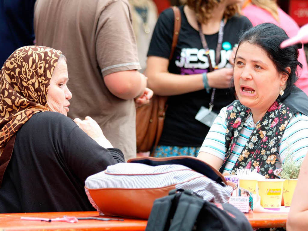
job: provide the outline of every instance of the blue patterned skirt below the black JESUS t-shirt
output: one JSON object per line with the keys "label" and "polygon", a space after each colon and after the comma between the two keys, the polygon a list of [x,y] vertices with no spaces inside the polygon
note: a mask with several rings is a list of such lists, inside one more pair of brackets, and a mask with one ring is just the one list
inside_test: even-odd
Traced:
{"label": "blue patterned skirt below the black JESUS t-shirt", "polygon": [[156,147],[154,157],[171,156],[195,156],[197,157],[200,147],[164,146]]}

